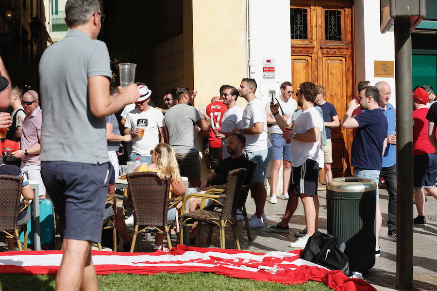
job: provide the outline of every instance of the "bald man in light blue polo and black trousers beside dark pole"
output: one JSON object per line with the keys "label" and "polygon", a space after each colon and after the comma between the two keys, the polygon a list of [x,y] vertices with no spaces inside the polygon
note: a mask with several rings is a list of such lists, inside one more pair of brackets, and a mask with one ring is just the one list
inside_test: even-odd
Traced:
{"label": "bald man in light blue polo and black trousers beside dark pole", "polygon": [[396,198],[397,198],[397,181],[396,181],[396,112],[388,101],[391,97],[390,85],[385,81],[379,81],[375,84],[379,91],[379,107],[386,115],[387,128],[387,147],[383,154],[382,169],[379,178],[384,178],[388,191],[388,233],[387,237],[396,240]]}

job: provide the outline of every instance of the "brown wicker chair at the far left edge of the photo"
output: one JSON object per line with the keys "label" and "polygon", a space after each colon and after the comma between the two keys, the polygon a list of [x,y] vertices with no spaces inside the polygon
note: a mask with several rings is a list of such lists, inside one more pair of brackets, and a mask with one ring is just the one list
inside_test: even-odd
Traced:
{"label": "brown wicker chair at the far left edge of the photo", "polygon": [[[18,235],[20,226],[17,226],[18,214],[20,212],[20,198],[23,178],[12,175],[0,175],[0,231],[6,234],[7,238],[17,241],[18,250],[21,251],[21,242]],[[21,211],[26,210],[27,204]],[[24,227],[24,250],[27,250],[27,229]],[[11,234],[14,230],[14,235]]]}

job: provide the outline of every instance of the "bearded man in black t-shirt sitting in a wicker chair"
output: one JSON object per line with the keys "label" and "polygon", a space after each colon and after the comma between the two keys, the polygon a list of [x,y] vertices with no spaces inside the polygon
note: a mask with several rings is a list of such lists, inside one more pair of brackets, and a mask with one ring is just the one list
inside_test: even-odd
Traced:
{"label": "bearded man in black t-shirt sitting in a wicker chair", "polygon": [[[189,188],[188,193],[200,193],[203,194],[206,190],[211,188],[221,188],[226,184],[228,179],[228,173],[235,169],[248,169],[249,160],[243,155],[242,150],[246,144],[246,137],[239,132],[233,132],[229,137],[226,144],[227,151],[231,155],[227,159],[223,160],[218,165],[218,168],[209,173],[203,180],[199,188]],[[202,202],[201,198],[188,199],[189,210],[193,211],[200,206]],[[212,204],[212,200],[206,200],[205,207]]]}

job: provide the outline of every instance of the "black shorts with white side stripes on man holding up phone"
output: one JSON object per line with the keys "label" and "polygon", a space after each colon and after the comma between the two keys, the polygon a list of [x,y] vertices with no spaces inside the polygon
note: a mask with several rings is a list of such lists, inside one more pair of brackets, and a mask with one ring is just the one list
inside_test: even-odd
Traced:
{"label": "black shorts with white side stripes on man holding up phone", "polygon": [[316,196],[318,183],[319,163],[308,159],[299,167],[292,168],[288,193],[293,193],[295,196],[300,194]]}

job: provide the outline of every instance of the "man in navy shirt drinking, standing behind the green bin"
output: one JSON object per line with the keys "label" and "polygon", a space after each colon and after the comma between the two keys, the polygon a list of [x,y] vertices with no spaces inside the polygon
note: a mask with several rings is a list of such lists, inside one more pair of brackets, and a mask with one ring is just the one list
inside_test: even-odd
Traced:
{"label": "man in navy shirt drinking, standing behind the green bin", "polygon": [[[361,90],[359,103],[353,99],[343,117],[341,126],[345,129],[357,129],[352,142],[352,162],[354,176],[369,178],[378,187],[379,174],[382,169],[382,153],[387,145],[387,118],[379,107],[379,91],[368,86]],[[361,107],[366,111],[352,117],[353,111]],[[379,206],[379,193],[376,190],[376,245],[375,256],[381,255],[379,248],[379,232],[381,231],[382,217]]]}

